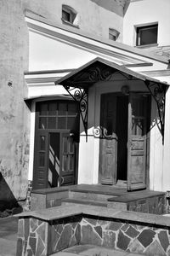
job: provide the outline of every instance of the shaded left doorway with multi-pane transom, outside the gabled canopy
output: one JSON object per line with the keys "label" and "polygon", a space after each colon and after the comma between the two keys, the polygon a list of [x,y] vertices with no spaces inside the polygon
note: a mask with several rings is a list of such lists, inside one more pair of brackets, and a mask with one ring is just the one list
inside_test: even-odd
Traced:
{"label": "shaded left doorway with multi-pane transom, outside the gabled canopy", "polygon": [[37,102],[33,189],[77,183],[78,136],[76,102]]}

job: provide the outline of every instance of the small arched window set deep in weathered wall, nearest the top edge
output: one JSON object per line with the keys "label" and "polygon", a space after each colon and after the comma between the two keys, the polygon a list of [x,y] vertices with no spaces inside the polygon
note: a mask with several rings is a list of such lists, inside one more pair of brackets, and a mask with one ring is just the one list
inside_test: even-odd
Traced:
{"label": "small arched window set deep in weathered wall, nearest the top edge", "polygon": [[62,5],[62,18],[63,22],[68,25],[77,26],[77,11],[68,5]]}

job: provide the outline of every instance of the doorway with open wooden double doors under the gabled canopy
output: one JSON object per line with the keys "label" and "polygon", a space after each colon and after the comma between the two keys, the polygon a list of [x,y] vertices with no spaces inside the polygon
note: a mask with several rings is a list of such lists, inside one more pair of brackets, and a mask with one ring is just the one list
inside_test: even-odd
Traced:
{"label": "doorway with open wooden double doors under the gabled canopy", "polygon": [[146,187],[150,130],[150,95],[111,93],[101,96],[99,183]]}

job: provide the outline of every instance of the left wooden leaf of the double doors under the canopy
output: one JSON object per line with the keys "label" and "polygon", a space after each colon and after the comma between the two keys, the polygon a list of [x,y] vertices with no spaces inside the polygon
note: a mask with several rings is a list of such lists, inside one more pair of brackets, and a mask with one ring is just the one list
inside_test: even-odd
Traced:
{"label": "left wooden leaf of the double doors under the canopy", "polygon": [[116,137],[116,95],[101,96],[99,142],[99,183],[116,183],[117,137]]}

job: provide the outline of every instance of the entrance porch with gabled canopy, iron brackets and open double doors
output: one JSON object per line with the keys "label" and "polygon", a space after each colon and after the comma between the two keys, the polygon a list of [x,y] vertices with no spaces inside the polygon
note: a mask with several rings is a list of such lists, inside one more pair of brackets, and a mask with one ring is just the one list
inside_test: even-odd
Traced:
{"label": "entrance porch with gabled canopy, iron brackets and open double doors", "polygon": [[80,110],[77,183],[161,190],[167,84],[101,58],[56,84]]}

